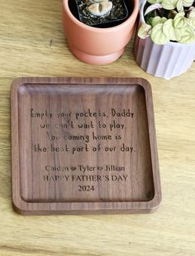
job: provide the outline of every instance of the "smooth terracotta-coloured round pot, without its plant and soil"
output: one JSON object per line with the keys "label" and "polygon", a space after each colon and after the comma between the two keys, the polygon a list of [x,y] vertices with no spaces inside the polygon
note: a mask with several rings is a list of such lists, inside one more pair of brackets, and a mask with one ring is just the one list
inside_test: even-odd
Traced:
{"label": "smooth terracotta-coloured round pot, without its plant and soil", "polygon": [[69,9],[69,1],[73,0],[63,0],[64,31],[74,56],[90,64],[107,64],[117,60],[134,32],[139,0],[129,0],[133,10],[125,22],[108,28],[89,27],[79,22]]}

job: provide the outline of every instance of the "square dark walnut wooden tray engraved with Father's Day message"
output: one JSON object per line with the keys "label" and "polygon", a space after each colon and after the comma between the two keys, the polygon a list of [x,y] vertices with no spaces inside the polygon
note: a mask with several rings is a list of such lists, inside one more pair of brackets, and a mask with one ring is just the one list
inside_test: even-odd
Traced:
{"label": "square dark walnut wooden tray engraved with Father's Day message", "polygon": [[12,84],[12,200],[21,214],[148,213],[161,200],[150,84]]}

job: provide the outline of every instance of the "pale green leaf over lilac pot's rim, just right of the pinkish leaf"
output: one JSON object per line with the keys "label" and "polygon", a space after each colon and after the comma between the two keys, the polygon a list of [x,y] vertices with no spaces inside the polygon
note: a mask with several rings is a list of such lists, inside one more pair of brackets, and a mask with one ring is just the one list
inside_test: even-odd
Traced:
{"label": "pale green leaf over lilac pot's rim, just right of the pinkish leaf", "polygon": [[157,24],[151,31],[151,40],[157,45],[165,45],[170,41],[169,37],[164,34],[163,26],[162,23]]}

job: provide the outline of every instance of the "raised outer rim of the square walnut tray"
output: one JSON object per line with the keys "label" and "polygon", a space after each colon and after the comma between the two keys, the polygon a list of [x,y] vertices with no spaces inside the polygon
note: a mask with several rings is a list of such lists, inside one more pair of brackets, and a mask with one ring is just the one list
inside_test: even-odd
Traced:
{"label": "raised outer rim of the square walnut tray", "polygon": [[[155,196],[149,201],[137,202],[26,202],[20,193],[19,176],[19,141],[18,141],[18,109],[17,92],[21,85],[140,85],[145,89],[145,103],[148,118],[150,152]],[[73,215],[73,214],[126,214],[154,212],[161,200],[159,179],[159,158],[155,133],[155,115],[150,83],[142,78],[113,77],[113,78],[80,78],[80,77],[22,77],[13,80],[11,86],[11,130],[12,130],[12,205],[22,215]],[[15,125],[13,125],[13,123]]]}

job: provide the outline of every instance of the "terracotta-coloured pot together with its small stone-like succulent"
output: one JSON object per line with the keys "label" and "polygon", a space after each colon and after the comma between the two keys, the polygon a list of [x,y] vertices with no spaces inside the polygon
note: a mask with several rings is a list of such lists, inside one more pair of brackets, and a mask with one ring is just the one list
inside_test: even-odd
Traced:
{"label": "terracotta-coloured pot together with its small stone-like succulent", "polygon": [[[119,2],[119,0],[63,0],[64,31],[74,56],[90,64],[107,64],[117,60],[124,53],[125,47],[133,35],[139,12],[139,0],[125,0],[128,16],[124,21],[119,22],[120,24],[112,24],[112,27],[109,24],[105,27],[93,27],[79,20],[75,2],[85,4],[85,10],[88,11],[90,17],[96,15],[98,17],[96,13],[99,13],[99,10],[104,17],[107,15],[105,7],[110,13],[111,7],[114,8],[115,2]],[[112,3],[102,4],[102,2]],[[91,4],[95,5],[94,8],[91,7]]]}

